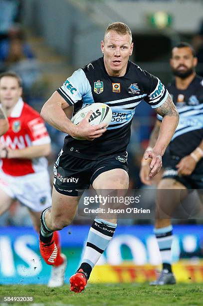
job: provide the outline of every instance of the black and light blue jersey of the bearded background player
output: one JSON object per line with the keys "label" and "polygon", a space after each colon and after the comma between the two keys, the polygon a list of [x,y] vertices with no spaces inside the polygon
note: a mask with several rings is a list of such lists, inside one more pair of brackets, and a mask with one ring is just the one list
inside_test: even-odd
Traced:
{"label": "black and light blue jersey of the bearded background player", "polygon": [[[203,78],[197,75],[185,90],[178,89],[174,80],[168,90],[180,115],[169,151],[182,158],[203,140]],[[160,115],[157,117],[162,119]]]}

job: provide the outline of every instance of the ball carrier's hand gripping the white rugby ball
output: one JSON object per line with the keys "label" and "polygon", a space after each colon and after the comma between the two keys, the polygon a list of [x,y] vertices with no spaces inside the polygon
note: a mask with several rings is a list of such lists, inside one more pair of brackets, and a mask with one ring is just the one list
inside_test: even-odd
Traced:
{"label": "ball carrier's hand gripping the white rugby ball", "polygon": [[101,123],[97,125],[91,125],[89,123],[89,118],[92,114],[92,111],[88,111],[84,119],[80,121],[77,125],[74,125],[71,136],[74,137],[83,137],[86,140],[94,140],[95,138],[100,137],[106,131],[106,123]]}

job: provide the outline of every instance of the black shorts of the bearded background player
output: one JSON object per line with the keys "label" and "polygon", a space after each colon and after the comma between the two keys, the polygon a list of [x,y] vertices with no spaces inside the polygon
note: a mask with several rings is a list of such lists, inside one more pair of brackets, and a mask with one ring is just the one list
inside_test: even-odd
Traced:
{"label": "black shorts of the bearded background player", "polygon": [[176,165],[180,162],[179,156],[170,156],[166,162],[166,168],[162,178],[174,178],[180,181],[188,189],[203,189],[203,160],[197,163],[197,166],[191,175],[179,176]]}

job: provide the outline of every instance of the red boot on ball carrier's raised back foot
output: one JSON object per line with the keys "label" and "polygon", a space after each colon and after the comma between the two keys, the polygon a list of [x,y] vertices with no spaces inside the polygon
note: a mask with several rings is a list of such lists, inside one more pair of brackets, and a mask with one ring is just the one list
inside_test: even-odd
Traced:
{"label": "red boot on ball carrier's raised back foot", "polygon": [[55,264],[56,260],[58,259],[58,249],[54,242],[54,235],[50,242],[44,243],[39,238],[39,249],[42,258],[47,264]]}

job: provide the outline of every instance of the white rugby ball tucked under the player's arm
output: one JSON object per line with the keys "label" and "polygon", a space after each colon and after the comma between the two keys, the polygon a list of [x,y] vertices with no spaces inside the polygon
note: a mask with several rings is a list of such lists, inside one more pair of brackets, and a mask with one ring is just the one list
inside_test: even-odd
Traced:
{"label": "white rugby ball tucked under the player's arm", "polygon": [[[84,106],[79,109],[76,114],[71,118],[71,121],[77,125],[87,113],[92,110],[92,114],[89,118],[89,123],[91,125],[97,125],[100,123],[106,123],[107,126],[111,122],[112,119],[112,110],[111,107],[104,103],[92,103],[90,105]],[[78,140],[84,140],[83,137],[73,137]]]}

